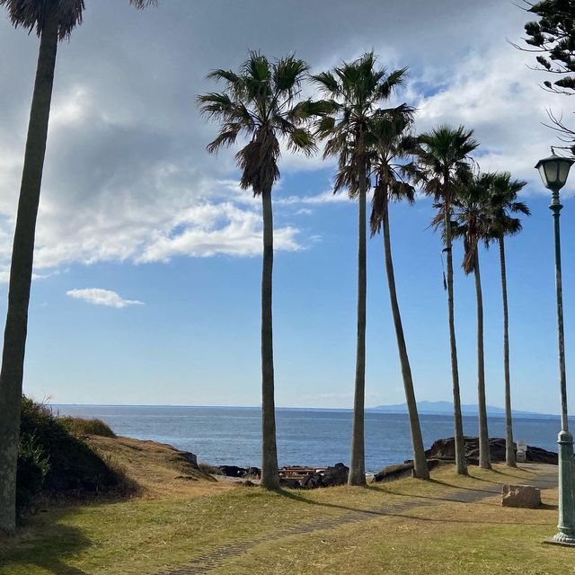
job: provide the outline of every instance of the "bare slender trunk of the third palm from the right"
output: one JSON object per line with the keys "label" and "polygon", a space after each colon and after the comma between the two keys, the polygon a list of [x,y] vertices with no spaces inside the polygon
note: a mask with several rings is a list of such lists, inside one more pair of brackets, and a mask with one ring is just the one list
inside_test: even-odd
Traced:
{"label": "bare slender trunk of the third palm from the right", "polygon": [[461,399],[459,394],[459,369],[457,367],[456,321],[453,302],[453,254],[451,242],[451,208],[446,201],[444,225],[446,230],[447,252],[447,309],[449,314],[449,347],[451,349],[451,376],[453,379],[453,416],[456,443],[456,471],[460,475],[467,474],[465,461],[464,424],[461,417]]}

